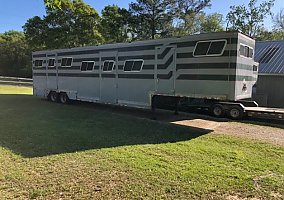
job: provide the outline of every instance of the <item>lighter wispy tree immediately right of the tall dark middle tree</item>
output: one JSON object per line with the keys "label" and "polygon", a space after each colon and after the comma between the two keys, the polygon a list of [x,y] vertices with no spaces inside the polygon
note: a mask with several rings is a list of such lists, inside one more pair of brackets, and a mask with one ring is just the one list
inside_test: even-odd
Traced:
{"label": "lighter wispy tree immediately right of the tall dark middle tree", "polygon": [[199,17],[202,10],[211,6],[211,0],[174,0],[172,13],[175,16],[175,34],[186,35],[196,32],[200,25]]}

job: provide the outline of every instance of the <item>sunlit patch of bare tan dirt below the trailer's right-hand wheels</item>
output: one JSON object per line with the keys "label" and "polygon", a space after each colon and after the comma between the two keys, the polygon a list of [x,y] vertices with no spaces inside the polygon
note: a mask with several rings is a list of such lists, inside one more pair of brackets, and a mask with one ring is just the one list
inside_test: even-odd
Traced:
{"label": "sunlit patch of bare tan dirt below the trailer's right-hand wheels", "polygon": [[[186,119],[188,117],[189,119]],[[211,134],[234,135],[284,146],[284,121],[263,123],[257,121],[233,122],[199,115],[185,115],[171,123],[212,130]]]}

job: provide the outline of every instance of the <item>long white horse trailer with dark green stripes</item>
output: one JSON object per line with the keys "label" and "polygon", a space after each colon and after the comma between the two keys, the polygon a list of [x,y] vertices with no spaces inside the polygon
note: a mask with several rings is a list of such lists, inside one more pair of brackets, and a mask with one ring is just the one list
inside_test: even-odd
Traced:
{"label": "long white horse trailer with dark green stripes", "polygon": [[255,41],[238,32],[37,51],[34,95],[143,108],[208,107],[240,118],[257,80]]}

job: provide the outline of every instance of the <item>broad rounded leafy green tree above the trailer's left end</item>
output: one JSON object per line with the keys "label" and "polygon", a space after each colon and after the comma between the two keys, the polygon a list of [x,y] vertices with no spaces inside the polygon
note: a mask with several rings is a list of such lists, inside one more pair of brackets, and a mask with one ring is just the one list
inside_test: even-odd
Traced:
{"label": "broad rounded leafy green tree above the trailer's left end", "polygon": [[46,16],[29,19],[23,28],[29,43],[42,48],[102,43],[100,17],[82,0],[61,0],[61,9],[46,7]]}

